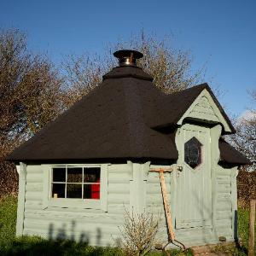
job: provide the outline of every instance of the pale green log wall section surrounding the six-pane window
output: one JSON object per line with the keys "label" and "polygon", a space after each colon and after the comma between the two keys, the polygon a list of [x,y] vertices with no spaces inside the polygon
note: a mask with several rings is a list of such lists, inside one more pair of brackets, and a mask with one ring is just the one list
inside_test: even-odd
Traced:
{"label": "pale green log wall section surrounding the six-pane window", "polygon": [[27,166],[26,171],[23,235],[113,246],[119,236],[118,226],[123,224],[124,208],[129,209],[130,205],[129,166],[108,166],[108,212],[76,207],[44,208],[44,166]]}

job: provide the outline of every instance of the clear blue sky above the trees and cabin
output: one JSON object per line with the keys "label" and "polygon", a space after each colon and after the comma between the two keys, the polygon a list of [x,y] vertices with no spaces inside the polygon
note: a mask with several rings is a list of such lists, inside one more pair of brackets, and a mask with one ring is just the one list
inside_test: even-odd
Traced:
{"label": "clear blue sky above the trees and cabin", "polygon": [[204,80],[224,92],[228,113],[255,108],[247,93],[256,89],[254,0],[0,0],[0,27],[26,32],[30,49],[56,64],[68,54],[102,55],[106,45],[142,29],[167,36],[173,47],[191,52],[193,70],[207,66]]}

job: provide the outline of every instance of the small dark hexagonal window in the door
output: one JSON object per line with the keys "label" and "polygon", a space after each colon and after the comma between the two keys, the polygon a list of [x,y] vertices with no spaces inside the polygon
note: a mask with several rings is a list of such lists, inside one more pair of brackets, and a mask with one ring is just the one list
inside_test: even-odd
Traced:
{"label": "small dark hexagonal window in the door", "polygon": [[202,144],[196,137],[192,137],[185,143],[184,160],[193,169],[201,164],[201,148]]}

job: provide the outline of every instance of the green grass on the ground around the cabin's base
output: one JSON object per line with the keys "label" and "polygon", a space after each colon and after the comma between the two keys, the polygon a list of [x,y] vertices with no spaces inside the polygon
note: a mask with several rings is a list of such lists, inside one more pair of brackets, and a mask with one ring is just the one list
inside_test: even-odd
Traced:
{"label": "green grass on the ground around the cabin's base", "polygon": [[[83,242],[75,241],[48,241],[38,236],[15,237],[17,200],[8,196],[0,201],[0,255],[90,255],[90,256],[125,256],[117,248],[90,247]],[[219,247],[220,251],[227,251],[230,255],[247,255],[249,211],[239,208],[238,230],[243,246],[241,248]],[[149,253],[148,256],[163,256],[160,252]],[[172,251],[171,255],[191,256],[190,251],[182,253]]]}

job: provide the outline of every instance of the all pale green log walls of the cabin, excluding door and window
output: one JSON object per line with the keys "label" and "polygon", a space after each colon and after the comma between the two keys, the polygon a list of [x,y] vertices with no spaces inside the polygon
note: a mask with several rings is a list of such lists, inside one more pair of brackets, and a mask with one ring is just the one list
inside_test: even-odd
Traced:
{"label": "all pale green log walls of the cabin, excluding door and window", "polygon": [[[218,130],[218,129],[216,129]],[[218,137],[218,132],[213,131]],[[214,136],[212,136],[214,137]],[[214,143],[212,143],[212,147]],[[216,160],[218,150],[212,154]],[[157,172],[149,168],[170,168],[170,166],[150,166],[150,163],[127,162],[123,165],[108,166],[108,212],[102,209],[81,209],[76,207],[44,207],[44,167],[26,166],[26,189],[24,221],[18,212],[18,220],[23,227],[22,235],[37,235],[45,238],[67,238],[88,241],[90,245],[114,246],[119,237],[119,226],[123,224],[124,211],[154,213],[161,218],[158,241],[167,241],[167,227]],[[174,170],[176,166],[171,166]],[[212,227],[178,229],[178,241],[186,246],[218,242],[219,236],[234,240],[236,212],[236,168],[224,169],[212,166]],[[46,177],[47,178],[47,177]],[[166,189],[172,207],[172,222],[175,225],[177,172],[166,173]],[[17,235],[21,235],[18,233]]]}

